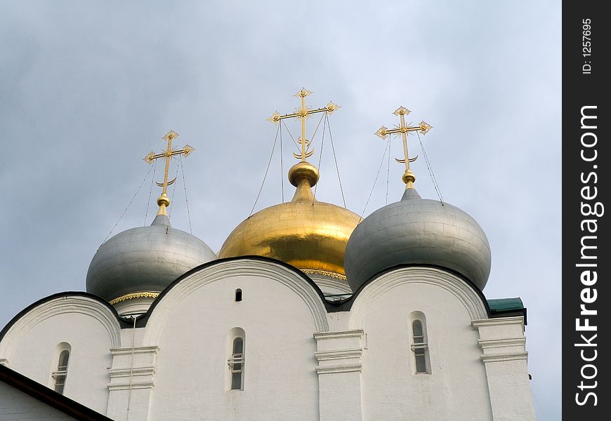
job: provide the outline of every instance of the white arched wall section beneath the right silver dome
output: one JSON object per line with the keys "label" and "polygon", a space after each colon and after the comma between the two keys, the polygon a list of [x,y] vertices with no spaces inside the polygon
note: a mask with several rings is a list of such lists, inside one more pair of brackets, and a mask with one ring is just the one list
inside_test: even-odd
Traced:
{"label": "white arched wall section beneath the right silver dome", "polygon": [[[462,281],[437,272],[400,269],[386,274],[357,298],[367,305],[353,305],[353,316],[362,320],[355,323],[362,323],[367,335],[364,420],[492,420],[478,333],[468,309],[450,288],[461,291]],[[415,373],[412,312],[426,316],[428,374]]]}

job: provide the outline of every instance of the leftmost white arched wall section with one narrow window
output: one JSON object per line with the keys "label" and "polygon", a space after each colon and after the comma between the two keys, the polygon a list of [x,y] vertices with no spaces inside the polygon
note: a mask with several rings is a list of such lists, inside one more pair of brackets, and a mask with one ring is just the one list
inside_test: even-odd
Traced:
{"label": "leftmost white arched wall section with one narrow window", "polygon": [[55,347],[72,347],[64,395],[106,413],[110,348],[119,341],[119,322],[110,309],[84,297],[58,298],[32,309],[0,342],[0,359],[32,380],[53,387],[57,370]]}

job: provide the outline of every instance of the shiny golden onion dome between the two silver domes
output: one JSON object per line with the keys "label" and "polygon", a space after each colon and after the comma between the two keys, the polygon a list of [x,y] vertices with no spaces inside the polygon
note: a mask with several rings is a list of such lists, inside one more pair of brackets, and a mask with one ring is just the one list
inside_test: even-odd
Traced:
{"label": "shiny golden onion dome between the two silver domes", "polygon": [[343,255],[361,218],[346,208],[317,201],[311,187],[318,169],[302,161],[289,171],[297,187],[290,202],[265,208],[238,225],[220,258],[260,255],[289,263],[306,274],[346,280]]}

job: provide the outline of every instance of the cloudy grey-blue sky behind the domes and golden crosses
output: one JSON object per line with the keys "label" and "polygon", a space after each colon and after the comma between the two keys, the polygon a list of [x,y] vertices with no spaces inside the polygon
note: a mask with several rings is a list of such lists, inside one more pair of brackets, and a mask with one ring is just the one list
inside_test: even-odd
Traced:
{"label": "cloudy grey-blue sky behind the domes and golden crosses", "polygon": [[[535,408],[539,420],[560,419],[559,2],[156,3],[3,6],[0,326],[46,295],[84,290],[141,184],[113,234],[150,223],[159,190],[150,194],[141,159],[170,129],[177,146],[196,148],[183,160],[192,231],[218,251],[261,187],[275,135],[265,119],[292,112],[304,86],[308,105],[341,105],[329,121],[355,213],[386,146],[373,133],[398,123],[392,112],[404,105],[408,121],[434,126],[423,143],[442,195],[492,247],[485,295],[522,298]],[[291,146],[285,134],[284,172]],[[317,197],[341,204],[329,146]],[[401,156],[400,140],[391,148]],[[434,199],[418,138],[410,151],[421,155],[416,187]],[[257,210],[282,201],[280,163],[276,149]],[[386,203],[387,178],[388,201],[400,198],[401,174],[383,161],[365,215]],[[292,190],[284,182],[285,199]],[[171,219],[188,231],[185,203],[179,173]]]}

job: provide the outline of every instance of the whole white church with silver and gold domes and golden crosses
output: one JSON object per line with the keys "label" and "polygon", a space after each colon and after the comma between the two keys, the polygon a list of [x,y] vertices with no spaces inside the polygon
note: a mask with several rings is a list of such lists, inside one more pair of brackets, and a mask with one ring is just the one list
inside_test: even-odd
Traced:
{"label": "whole white church with silver and gold domes and golden crosses", "polygon": [[92,250],[86,292],[0,331],[0,420],[32,401],[27,419],[535,419],[523,302],[485,297],[485,232],[414,187],[408,135],[431,126],[400,107],[376,133],[402,140],[405,173],[399,200],[361,218],[315,197],[306,118],[337,106],[308,108],[309,94],[270,117],[301,122],[292,200],[239,222],[218,253],[168,215],[172,158],[193,148],[170,131],[145,156],[165,165],[152,223]]}

